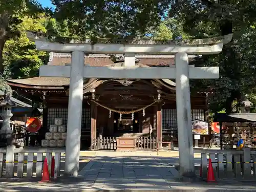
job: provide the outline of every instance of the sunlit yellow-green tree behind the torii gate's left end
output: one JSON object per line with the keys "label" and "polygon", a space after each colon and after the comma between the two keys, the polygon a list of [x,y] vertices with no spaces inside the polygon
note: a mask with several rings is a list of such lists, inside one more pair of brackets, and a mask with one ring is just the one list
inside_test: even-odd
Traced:
{"label": "sunlit yellow-green tree behind the torii gate's left end", "polygon": [[17,25],[20,37],[6,41],[3,58],[5,75],[9,78],[29,78],[38,75],[39,67],[46,62],[46,52],[35,49],[34,42],[29,41],[26,30],[46,32],[47,18],[44,14],[34,19],[28,16]]}

